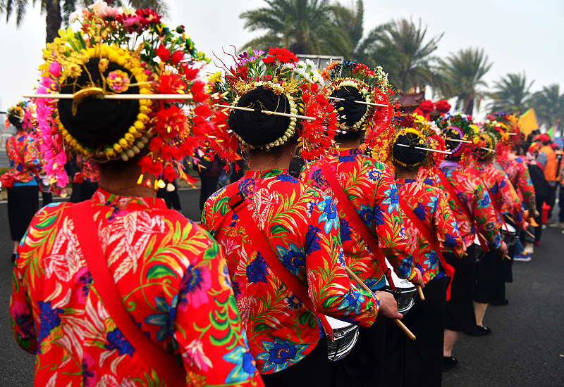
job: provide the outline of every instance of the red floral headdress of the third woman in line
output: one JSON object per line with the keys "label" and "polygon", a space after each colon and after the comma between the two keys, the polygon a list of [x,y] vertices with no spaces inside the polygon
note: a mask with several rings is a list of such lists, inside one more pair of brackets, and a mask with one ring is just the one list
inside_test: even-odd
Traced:
{"label": "red floral headdress of the third woman in line", "polygon": [[370,70],[367,65],[350,61],[332,62],[322,72],[324,80],[331,82],[331,92],[342,87],[353,87],[367,103],[366,113],[352,126],[339,124],[340,132],[367,132],[367,145],[372,148],[391,126],[398,104],[391,101],[394,95],[388,84],[388,74],[380,66]]}

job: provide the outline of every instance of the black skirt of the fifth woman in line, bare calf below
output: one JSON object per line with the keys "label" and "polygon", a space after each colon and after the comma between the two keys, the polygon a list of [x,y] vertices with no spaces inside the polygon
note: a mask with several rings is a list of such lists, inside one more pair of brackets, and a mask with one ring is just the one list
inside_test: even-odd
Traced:
{"label": "black skirt of the fifth woman in line, bare calf below", "polygon": [[471,331],[476,326],[474,315],[474,265],[476,246],[467,248],[467,256],[458,259],[453,253],[443,256],[454,268],[450,284],[450,300],[446,303],[445,329],[450,331]]}

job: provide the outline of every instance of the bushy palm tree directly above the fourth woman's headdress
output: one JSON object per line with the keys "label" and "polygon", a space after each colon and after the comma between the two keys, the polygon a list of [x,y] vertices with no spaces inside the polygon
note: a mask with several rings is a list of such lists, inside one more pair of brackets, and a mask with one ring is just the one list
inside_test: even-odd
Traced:
{"label": "bushy palm tree directly above the fourth woman's headdress", "polygon": [[[364,63],[374,67],[381,65],[388,72],[394,87],[408,90],[415,84],[432,83],[439,58],[433,55],[443,34],[426,42],[427,27],[421,20],[393,20],[369,32],[357,49],[356,55]],[[364,57],[364,58],[363,58]]]}

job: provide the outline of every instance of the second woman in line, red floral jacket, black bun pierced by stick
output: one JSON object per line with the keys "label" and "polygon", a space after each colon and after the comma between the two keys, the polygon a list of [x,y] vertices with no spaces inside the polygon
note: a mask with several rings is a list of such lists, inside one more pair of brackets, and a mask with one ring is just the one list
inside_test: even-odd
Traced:
{"label": "second woman in line, red floral jacket, black bun pierced by stick", "polygon": [[[212,82],[231,101],[212,148],[232,160],[240,143],[250,170],[209,198],[202,224],[226,249],[251,352],[265,386],[329,386],[322,319],[312,309],[362,326],[378,309],[371,292],[350,284],[331,198],[288,175],[296,145],[305,158],[331,146],[336,113],[317,68],[283,48],[267,56],[249,50],[224,83],[216,76]],[[226,120],[224,113],[214,120]],[[307,299],[293,293],[288,273]]]}

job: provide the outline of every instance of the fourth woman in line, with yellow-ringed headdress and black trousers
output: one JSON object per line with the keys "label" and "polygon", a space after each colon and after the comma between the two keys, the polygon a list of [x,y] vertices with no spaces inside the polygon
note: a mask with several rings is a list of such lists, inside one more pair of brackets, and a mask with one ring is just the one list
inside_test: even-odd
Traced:
{"label": "fourth woman in line, with yellow-ringed headdress and black trousers", "polygon": [[444,158],[441,151],[445,148],[439,129],[414,116],[415,120],[403,120],[391,133],[389,162],[396,171],[413,263],[425,283],[424,300],[416,297],[414,307],[403,318],[416,341],[406,340],[397,326],[388,324],[384,385],[440,387],[444,312],[450,298],[446,284],[447,276],[453,275],[442,252],[448,248],[460,259],[465,246],[443,191],[417,181],[419,168],[434,168]]}

